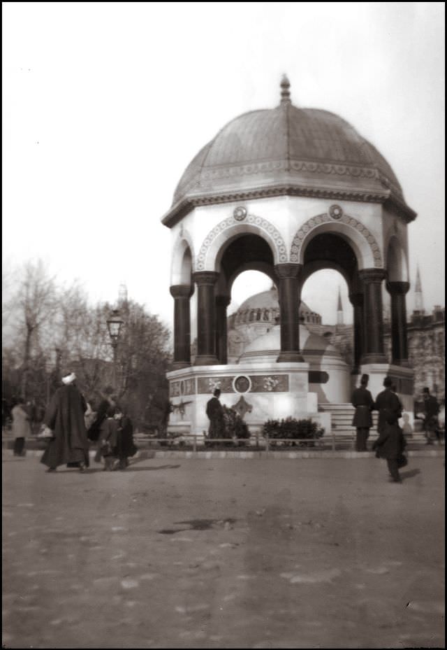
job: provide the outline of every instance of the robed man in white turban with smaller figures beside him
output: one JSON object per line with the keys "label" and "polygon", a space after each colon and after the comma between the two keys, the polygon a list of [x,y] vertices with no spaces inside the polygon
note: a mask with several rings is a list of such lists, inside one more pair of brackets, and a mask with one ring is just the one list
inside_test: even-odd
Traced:
{"label": "robed man in white turban with smaller figures beside him", "polygon": [[44,418],[49,441],[41,462],[47,472],[55,472],[59,465],[83,472],[89,467],[89,441],[97,443],[95,460],[103,459],[105,470],[126,469],[129,456],[137,451],[131,419],[112,398],[104,399],[94,414],[76,386],[73,372],[62,378],[62,384]]}

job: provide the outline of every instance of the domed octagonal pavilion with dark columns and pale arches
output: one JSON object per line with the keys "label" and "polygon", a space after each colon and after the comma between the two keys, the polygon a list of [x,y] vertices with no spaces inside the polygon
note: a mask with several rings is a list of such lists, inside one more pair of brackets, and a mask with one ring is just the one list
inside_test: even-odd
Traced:
{"label": "domed octagonal pavilion with dark columns and pale arches", "polygon": [[[388,374],[410,409],[405,295],[407,226],[414,218],[372,143],[334,113],[294,106],[286,77],[276,108],[244,113],[223,127],[184,171],[162,219],[172,234],[174,369],[168,379],[175,408],[169,428],[207,430],[205,404],[217,386],[228,406],[241,397],[250,403],[249,425],[259,425],[265,413],[321,415],[300,327],[302,285],[320,269],[342,274],[353,305],[353,367],[344,400],[358,374],[369,374],[373,394]],[[278,288],[279,348],[276,358],[270,351],[235,362],[228,357],[227,307],[235,278],[247,270],[262,271]],[[391,364],[383,346],[383,283],[391,302]],[[263,308],[256,309],[262,322]],[[250,315],[249,307],[245,311]],[[258,321],[258,312],[251,318]]]}

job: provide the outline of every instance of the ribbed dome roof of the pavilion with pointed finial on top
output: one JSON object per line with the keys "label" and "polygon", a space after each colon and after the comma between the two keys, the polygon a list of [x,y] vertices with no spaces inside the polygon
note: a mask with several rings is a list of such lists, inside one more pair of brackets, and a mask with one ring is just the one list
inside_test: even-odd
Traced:
{"label": "ribbed dome roof of the pavilion with pointed finial on top", "polygon": [[281,83],[279,106],[240,115],[199,151],[177,185],[166,225],[194,205],[284,194],[392,198],[416,216],[379,151],[338,115],[293,106],[289,85]]}

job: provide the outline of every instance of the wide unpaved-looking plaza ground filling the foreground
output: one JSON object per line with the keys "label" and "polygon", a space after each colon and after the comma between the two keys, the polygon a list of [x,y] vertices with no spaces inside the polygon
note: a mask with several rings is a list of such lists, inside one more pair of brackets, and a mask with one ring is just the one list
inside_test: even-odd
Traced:
{"label": "wide unpaved-looking plaza ground filling the foreground", "polygon": [[444,647],[444,454],[2,465],[3,647]]}

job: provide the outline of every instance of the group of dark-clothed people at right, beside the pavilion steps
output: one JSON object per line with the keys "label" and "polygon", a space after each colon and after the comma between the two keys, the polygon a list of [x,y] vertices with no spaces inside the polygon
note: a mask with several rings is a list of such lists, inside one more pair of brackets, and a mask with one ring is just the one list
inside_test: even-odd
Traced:
{"label": "group of dark-clothed people at right, beside the pavilion steps", "polygon": [[[368,381],[369,376],[363,374],[360,386],[354,390],[352,395],[352,404],[356,409],[352,422],[357,429],[356,450],[367,451],[369,429],[372,427],[372,411],[379,411],[377,422],[379,437],[374,441],[372,448],[373,451],[376,451],[377,458],[386,459],[391,480],[400,483],[399,469],[407,463],[404,455],[406,440],[399,425],[403,411],[402,402],[397,396],[396,387],[390,377],[387,376],[383,380],[384,390],[377,395],[375,402],[367,390]],[[425,435],[427,444],[432,444],[431,432],[439,427],[439,404],[436,397],[430,395],[429,388],[423,389],[423,397]]]}

